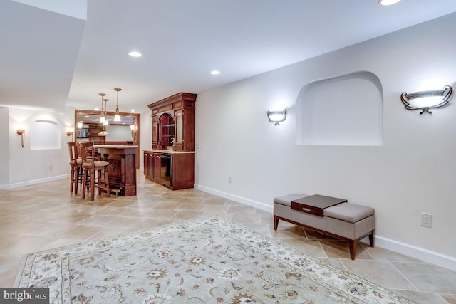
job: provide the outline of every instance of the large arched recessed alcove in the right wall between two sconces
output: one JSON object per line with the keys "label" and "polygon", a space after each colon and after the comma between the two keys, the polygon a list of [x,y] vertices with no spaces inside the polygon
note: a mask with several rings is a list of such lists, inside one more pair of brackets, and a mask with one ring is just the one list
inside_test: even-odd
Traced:
{"label": "large arched recessed alcove in the right wall between two sconces", "polygon": [[382,145],[380,80],[361,71],[307,83],[296,102],[296,122],[297,145]]}

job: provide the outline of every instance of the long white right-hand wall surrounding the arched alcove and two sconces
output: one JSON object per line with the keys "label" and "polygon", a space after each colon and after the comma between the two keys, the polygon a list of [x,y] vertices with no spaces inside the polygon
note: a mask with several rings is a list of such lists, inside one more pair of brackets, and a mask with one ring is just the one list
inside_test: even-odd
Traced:
{"label": "long white right-hand wall surrounding the arched alcove and two sconces", "polygon": [[[451,14],[199,93],[196,187],[265,210],[296,192],[373,206],[378,245],[456,269],[456,101],[432,115],[400,102],[404,91],[456,89],[455,28]],[[383,86],[383,145],[296,145],[301,88],[364,70]],[[286,121],[268,122],[267,110],[284,107]],[[421,212],[432,228],[420,226]]]}

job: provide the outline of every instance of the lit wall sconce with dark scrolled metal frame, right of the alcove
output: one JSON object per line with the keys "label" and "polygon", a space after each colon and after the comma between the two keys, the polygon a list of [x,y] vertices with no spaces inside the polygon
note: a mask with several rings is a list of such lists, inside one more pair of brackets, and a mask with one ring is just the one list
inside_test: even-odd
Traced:
{"label": "lit wall sconce with dark scrolled metal frame, right of the alcove", "polygon": [[[405,105],[405,109],[407,110],[421,110],[420,114],[432,114],[430,109],[440,108],[447,105],[452,93],[453,89],[450,85],[445,85],[443,90],[429,90],[410,94],[404,92],[400,95],[400,101],[402,101]],[[420,100],[412,102],[414,99]]]}

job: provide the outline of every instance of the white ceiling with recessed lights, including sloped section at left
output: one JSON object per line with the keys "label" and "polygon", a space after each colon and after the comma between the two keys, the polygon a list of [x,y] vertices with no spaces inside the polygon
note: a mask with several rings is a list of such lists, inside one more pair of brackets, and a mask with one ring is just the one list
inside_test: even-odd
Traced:
{"label": "white ceiling with recessed lights, including sloped section at left", "polygon": [[[0,1],[0,105],[92,110],[106,93],[113,111],[114,88],[122,88],[120,111],[142,112],[175,93],[199,93],[456,11],[455,0],[73,1],[87,5],[87,20]],[[129,57],[133,50],[142,57]]]}

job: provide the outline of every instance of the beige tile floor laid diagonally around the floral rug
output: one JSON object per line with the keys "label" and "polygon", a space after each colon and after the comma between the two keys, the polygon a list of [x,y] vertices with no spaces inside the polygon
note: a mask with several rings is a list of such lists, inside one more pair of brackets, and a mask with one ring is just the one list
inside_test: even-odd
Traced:
{"label": "beige tile floor laid diagonally around the floral rug", "polygon": [[456,303],[456,272],[367,243],[356,261],[348,243],[279,221],[274,231],[269,212],[197,189],[171,190],[138,172],[137,196],[82,199],[69,192],[69,181],[0,190],[0,286],[11,287],[26,253],[71,245],[136,229],[200,216],[222,215],[261,234],[299,248],[418,303]]}

